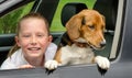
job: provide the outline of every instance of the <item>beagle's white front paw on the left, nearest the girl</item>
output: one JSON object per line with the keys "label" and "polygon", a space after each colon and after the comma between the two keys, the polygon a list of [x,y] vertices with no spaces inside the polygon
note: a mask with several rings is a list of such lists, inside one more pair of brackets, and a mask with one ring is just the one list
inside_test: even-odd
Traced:
{"label": "beagle's white front paw on the left, nearest the girl", "polygon": [[45,63],[45,68],[48,70],[54,70],[57,68],[57,66],[58,66],[58,63],[56,60],[47,60]]}

